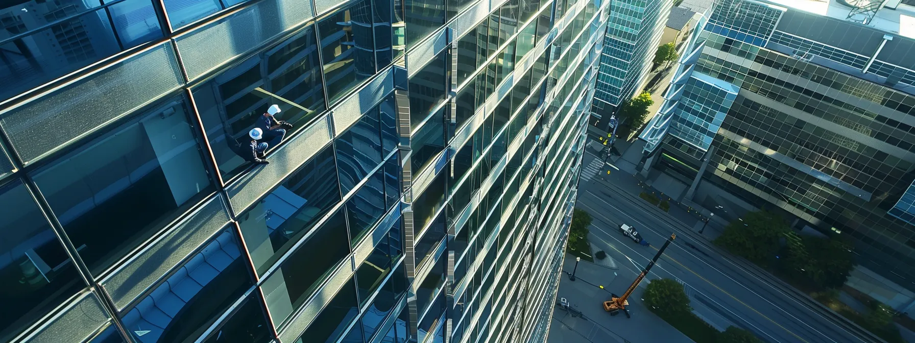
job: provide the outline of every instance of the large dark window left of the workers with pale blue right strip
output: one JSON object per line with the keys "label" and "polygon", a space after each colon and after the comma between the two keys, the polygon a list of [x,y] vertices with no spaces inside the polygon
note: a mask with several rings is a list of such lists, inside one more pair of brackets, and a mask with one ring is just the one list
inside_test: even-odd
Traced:
{"label": "large dark window left of the workers with pale blue right strip", "polygon": [[93,272],[213,191],[194,131],[184,102],[171,99],[35,176]]}

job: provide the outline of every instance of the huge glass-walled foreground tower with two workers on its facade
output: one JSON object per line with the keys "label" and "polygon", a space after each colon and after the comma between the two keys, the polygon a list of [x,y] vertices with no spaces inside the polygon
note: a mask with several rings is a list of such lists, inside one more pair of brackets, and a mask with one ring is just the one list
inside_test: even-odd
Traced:
{"label": "huge glass-walled foreground tower with two workers on its facade", "polygon": [[0,340],[544,341],[607,7],[5,4]]}

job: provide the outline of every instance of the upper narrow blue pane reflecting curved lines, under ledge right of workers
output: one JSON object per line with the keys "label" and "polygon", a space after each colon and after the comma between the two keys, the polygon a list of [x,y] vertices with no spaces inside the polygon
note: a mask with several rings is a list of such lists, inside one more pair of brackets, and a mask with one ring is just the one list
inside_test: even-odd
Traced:
{"label": "upper narrow blue pane reflecting curved lines, under ledge right of workers", "polygon": [[369,175],[371,169],[382,163],[380,125],[378,109],[373,108],[337,139],[335,145],[343,194],[350,193],[362,178]]}

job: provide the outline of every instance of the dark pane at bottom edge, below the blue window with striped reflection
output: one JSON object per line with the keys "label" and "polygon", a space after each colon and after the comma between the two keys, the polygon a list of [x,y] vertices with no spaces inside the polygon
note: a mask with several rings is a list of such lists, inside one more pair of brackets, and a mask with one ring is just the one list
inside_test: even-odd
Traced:
{"label": "dark pane at bottom edge, below the blue window with striped reflection", "polygon": [[204,343],[259,343],[270,341],[270,327],[264,319],[264,308],[258,296],[251,295],[231,314],[222,327],[213,331]]}

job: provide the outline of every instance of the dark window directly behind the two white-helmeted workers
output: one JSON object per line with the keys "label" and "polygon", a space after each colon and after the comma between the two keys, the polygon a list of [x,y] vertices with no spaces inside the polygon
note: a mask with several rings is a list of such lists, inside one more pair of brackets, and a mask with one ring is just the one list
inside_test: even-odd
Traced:
{"label": "dark window directly behind the two white-helmeted workers", "polygon": [[286,138],[327,108],[317,41],[314,27],[305,27],[194,89],[210,148],[226,181],[250,166],[244,159],[251,155],[248,131],[270,105],[282,110],[274,115],[277,120],[295,125]]}

